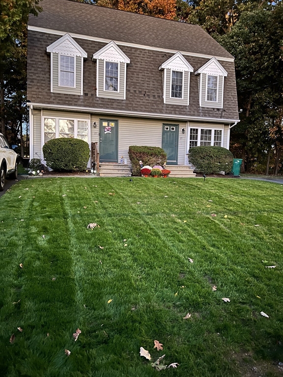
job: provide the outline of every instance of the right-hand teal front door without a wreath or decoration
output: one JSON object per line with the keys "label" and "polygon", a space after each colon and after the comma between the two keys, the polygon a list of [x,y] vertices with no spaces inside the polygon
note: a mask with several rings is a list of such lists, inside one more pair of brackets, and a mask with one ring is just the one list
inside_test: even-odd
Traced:
{"label": "right-hand teal front door without a wreath or decoration", "polygon": [[162,149],[167,154],[167,164],[178,164],[178,124],[163,124],[162,125]]}

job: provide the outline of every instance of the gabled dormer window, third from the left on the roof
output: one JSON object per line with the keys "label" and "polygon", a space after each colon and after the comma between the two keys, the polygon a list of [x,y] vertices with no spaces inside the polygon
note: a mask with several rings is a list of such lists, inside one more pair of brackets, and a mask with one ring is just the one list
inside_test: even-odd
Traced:
{"label": "gabled dormer window, third from the left on the roof", "polygon": [[191,64],[177,52],[166,60],[159,70],[163,78],[163,102],[170,105],[188,106],[190,102]]}

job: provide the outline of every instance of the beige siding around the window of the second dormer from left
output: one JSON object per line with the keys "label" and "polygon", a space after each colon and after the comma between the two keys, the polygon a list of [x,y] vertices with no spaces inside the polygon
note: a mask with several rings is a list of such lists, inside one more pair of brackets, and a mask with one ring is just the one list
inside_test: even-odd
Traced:
{"label": "beige siding around the window of the second dormer from left", "polygon": [[98,90],[98,97],[104,98],[116,98],[123,100],[125,96],[125,63],[119,62],[118,64],[118,83],[117,91],[105,90],[105,66],[106,61],[97,59],[96,64],[98,64],[98,83],[96,83]]}

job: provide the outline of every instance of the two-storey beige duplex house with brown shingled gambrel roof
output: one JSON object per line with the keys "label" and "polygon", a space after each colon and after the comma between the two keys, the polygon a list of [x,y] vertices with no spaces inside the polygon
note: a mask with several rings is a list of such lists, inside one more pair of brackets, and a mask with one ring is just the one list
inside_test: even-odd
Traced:
{"label": "two-storey beige duplex house with brown shingled gambrel roof", "polygon": [[97,143],[101,175],[129,172],[129,146],[148,145],[165,149],[175,176],[194,176],[191,147],[229,148],[239,121],[234,58],[201,27],[72,0],[40,4],[28,21],[30,158],[43,159],[47,140],[78,137]]}

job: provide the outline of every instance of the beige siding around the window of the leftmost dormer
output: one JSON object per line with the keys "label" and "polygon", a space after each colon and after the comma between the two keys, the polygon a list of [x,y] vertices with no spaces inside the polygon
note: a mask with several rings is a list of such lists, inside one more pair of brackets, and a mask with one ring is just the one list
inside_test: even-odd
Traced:
{"label": "beige siding around the window of the leftmost dormer", "polygon": [[53,69],[52,69],[52,75],[53,75],[53,92],[54,93],[65,93],[65,94],[77,94],[81,95],[82,92],[82,57],[80,56],[74,56],[74,59],[76,59],[75,67],[75,79],[76,79],[76,87],[66,87],[66,86],[60,86],[59,85],[59,54],[52,54],[53,59]]}

